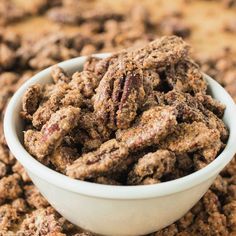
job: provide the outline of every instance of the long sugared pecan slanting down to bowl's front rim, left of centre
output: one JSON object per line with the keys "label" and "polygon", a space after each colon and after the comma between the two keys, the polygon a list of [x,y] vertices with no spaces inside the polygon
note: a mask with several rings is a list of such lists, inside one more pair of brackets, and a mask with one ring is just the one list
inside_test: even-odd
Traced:
{"label": "long sugared pecan slanting down to bowl's front rim, left of centre", "polygon": [[127,147],[111,139],[103,143],[99,149],[89,152],[78,158],[66,169],[66,174],[76,179],[89,179],[109,174],[126,162]]}

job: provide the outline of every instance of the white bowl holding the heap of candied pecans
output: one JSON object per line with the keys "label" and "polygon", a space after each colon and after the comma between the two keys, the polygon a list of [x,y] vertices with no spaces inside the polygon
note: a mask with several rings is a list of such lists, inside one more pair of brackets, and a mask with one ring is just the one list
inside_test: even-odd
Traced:
{"label": "white bowl holding the heap of candied pecans", "polygon": [[[108,54],[99,54],[105,58]],[[65,71],[81,70],[86,57],[59,64]],[[226,104],[224,122],[230,130],[224,151],[207,167],[173,181],[145,186],[108,186],[71,179],[42,165],[23,146],[19,116],[26,89],[51,81],[50,68],[33,76],[12,97],[5,113],[4,132],[11,152],[24,166],[49,203],[66,219],[105,235],[148,234],[182,217],[207,191],[236,152],[236,106],[230,95],[204,75],[216,99]]]}

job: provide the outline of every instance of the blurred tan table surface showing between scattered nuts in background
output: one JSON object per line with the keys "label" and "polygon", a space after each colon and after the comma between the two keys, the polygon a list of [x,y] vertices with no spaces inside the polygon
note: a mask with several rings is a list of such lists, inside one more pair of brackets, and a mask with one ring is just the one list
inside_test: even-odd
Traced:
{"label": "blurred tan table surface showing between scattered nuts in background", "polygon": [[[15,2],[24,7],[26,5],[23,0],[15,0]],[[223,30],[227,21],[234,21],[236,24],[236,8],[228,9],[221,2],[209,0],[141,0],[138,3],[147,7],[154,21],[168,12],[180,11],[184,21],[191,26],[191,36],[187,41],[192,45],[194,52],[209,55],[227,46],[236,52],[236,32],[229,33]],[[89,4],[91,7],[107,6],[116,11],[128,11],[133,4],[137,4],[137,1],[100,0],[90,1]],[[24,37],[32,37],[32,33],[34,37],[37,37],[37,34],[42,32],[57,30],[58,24],[44,16],[37,16],[10,25],[8,28]],[[60,26],[60,30],[68,33],[78,32],[79,28],[68,25]]]}

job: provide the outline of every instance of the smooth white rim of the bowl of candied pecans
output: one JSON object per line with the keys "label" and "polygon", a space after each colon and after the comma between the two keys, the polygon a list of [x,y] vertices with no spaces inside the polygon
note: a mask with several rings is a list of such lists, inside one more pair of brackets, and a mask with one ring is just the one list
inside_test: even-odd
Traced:
{"label": "smooth white rim of the bowl of candied pecans", "polygon": [[[94,54],[94,56],[101,58],[106,58],[109,55],[111,54]],[[76,68],[76,66],[78,67],[83,65],[86,58],[86,56],[77,57],[58,63],[58,65],[63,67],[65,70],[67,70],[67,68],[73,69]],[[17,110],[16,108],[20,106],[22,95],[24,94],[26,89],[29,86],[40,81],[42,78],[48,77],[50,71],[51,67],[42,70],[41,72],[34,75],[31,79],[26,81],[15,92],[6,108],[4,116],[4,134],[10,151],[13,153],[16,159],[26,168],[27,172],[29,171],[30,173],[33,173],[33,175],[36,175],[38,178],[43,179],[44,181],[52,185],[56,185],[61,189],[81,195],[106,199],[135,200],[162,197],[191,189],[201,184],[202,182],[209,180],[211,177],[218,174],[219,171],[228,164],[228,162],[233,158],[236,152],[236,122],[231,122],[229,124],[230,135],[225,149],[220,153],[220,155],[217,156],[214,161],[212,161],[206,167],[187,176],[163,183],[138,186],[104,185],[72,179],[66,175],[50,169],[47,166],[44,166],[33,156],[31,156],[20,142],[16,132],[16,124],[14,123],[14,116],[16,115],[15,110]],[[230,97],[227,91],[216,81],[214,81],[206,74],[204,74],[204,77],[206,78],[211,89],[212,87],[217,88],[224,94],[224,100],[227,102],[226,108],[229,109],[232,117],[234,117],[231,120],[236,120],[236,106],[233,99]]]}

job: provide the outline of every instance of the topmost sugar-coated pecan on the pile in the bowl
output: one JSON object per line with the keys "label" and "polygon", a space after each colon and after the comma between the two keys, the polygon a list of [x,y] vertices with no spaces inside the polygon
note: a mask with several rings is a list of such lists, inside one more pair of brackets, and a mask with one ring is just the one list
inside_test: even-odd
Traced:
{"label": "topmost sugar-coated pecan on the pile in the bowl", "polygon": [[163,70],[186,58],[189,46],[179,37],[164,36],[130,54],[143,68]]}

